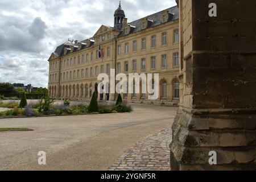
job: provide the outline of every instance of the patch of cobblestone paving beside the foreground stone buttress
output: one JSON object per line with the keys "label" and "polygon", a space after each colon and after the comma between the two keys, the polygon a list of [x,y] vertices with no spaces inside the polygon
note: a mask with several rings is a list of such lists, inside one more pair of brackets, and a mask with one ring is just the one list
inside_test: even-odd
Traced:
{"label": "patch of cobblestone paving beside the foreground stone buttress", "polygon": [[129,148],[109,171],[169,171],[171,126]]}

